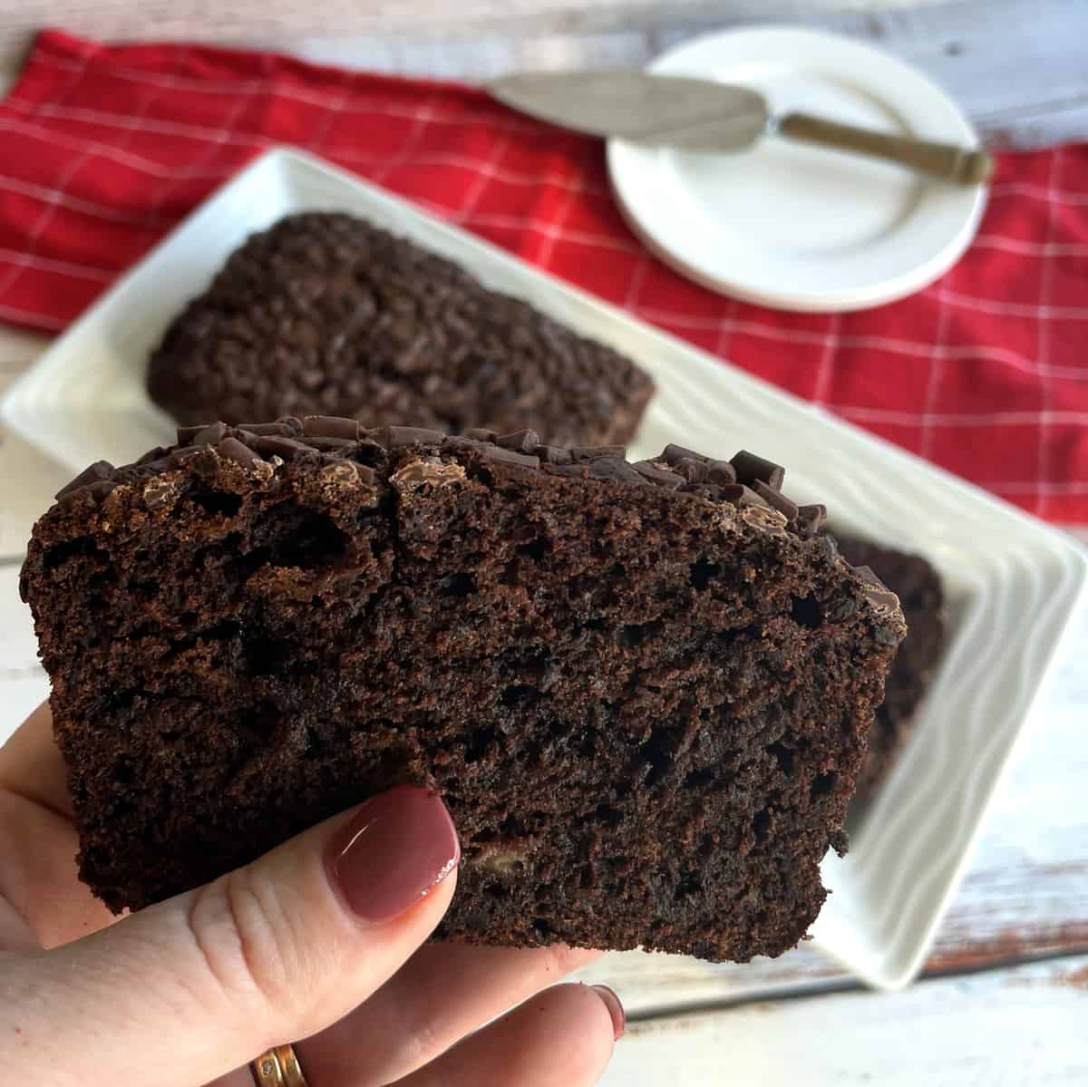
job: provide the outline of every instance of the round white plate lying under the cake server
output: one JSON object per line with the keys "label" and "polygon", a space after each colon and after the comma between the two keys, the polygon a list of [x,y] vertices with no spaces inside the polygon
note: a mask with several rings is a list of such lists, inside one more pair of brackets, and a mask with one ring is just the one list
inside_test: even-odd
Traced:
{"label": "round white plate lying under the cake server", "polygon": [[[652,72],[755,87],[774,114],[805,110],[976,146],[955,103],[902,61],[816,30],[729,30],[659,57]],[[765,136],[709,155],[608,144],[628,221],[650,248],[715,291],[780,309],[863,309],[931,283],[975,235],[986,193]]]}

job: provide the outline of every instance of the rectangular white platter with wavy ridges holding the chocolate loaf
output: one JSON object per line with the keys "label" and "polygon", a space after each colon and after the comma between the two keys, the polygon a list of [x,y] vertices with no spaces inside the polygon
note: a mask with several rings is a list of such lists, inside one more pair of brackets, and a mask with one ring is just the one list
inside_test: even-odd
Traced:
{"label": "rectangular white platter with wavy ridges holding the chocolate loaf", "polygon": [[9,391],[4,419],[73,470],[170,441],[147,398],[149,349],[247,234],[282,215],[364,215],[611,344],[651,371],[634,453],[677,441],[790,466],[787,492],[826,502],[843,529],[924,551],[952,604],[952,637],[916,730],[844,859],[817,944],[866,981],[917,971],[998,778],[1086,583],[1084,556],[981,491],[657,332],[381,189],[293,151],[271,151],[215,194],[113,287]]}

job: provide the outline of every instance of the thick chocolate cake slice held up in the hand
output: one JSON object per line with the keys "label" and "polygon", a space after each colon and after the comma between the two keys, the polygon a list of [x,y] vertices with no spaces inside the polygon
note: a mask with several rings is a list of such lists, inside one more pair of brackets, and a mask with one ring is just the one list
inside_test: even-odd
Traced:
{"label": "thick chocolate cake slice held up in the hand", "polygon": [[438,936],[744,961],[825,898],[899,603],[751,454],[286,419],[87,469],[23,568],[113,910],[399,782]]}

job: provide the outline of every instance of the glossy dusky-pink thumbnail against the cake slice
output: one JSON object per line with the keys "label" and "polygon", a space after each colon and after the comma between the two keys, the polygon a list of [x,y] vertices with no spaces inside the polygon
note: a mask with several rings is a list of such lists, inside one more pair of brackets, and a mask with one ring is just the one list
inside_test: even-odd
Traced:
{"label": "glossy dusky-pink thumbnail against the cake slice", "polygon": [[371,925],[400,916],[457,867],[461,850],[446,805],[425,789],[397,786],[368,800],[333,842],[333,878]]}

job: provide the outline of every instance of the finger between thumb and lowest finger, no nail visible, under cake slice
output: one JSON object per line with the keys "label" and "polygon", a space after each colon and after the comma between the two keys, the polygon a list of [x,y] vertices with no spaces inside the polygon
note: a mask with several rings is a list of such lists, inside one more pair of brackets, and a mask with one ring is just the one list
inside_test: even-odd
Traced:
{"label": "finger between thumb and lowest finger, no nail visible, under cake slice", "polygon": [[321,1087],[386,1084],[599,954],[429,943],[361,1008],[295,1048]]}

